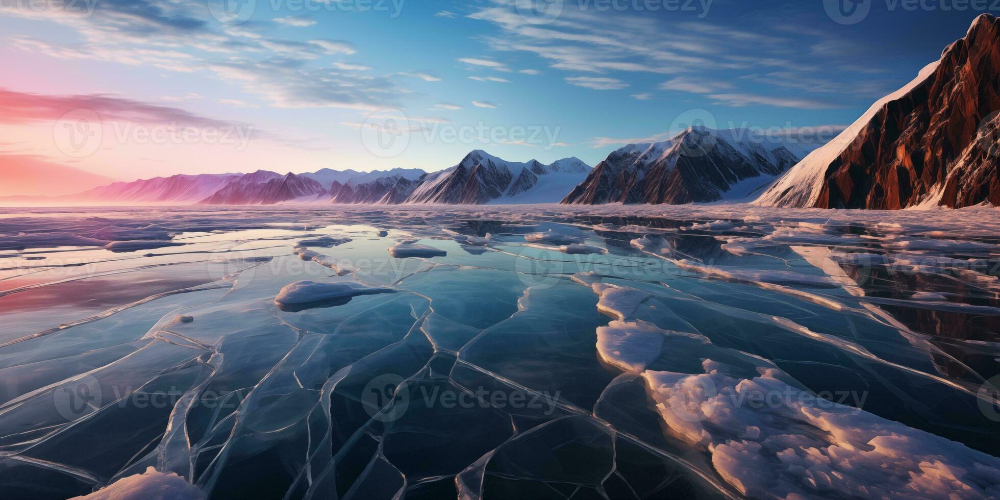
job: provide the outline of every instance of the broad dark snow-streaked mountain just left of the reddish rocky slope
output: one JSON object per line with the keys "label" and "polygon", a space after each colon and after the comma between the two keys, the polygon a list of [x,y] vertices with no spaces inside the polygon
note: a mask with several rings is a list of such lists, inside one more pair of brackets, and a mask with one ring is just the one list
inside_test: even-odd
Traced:
{"label": "broad dark snow-streaked mountain just left of the reddish rocky slope", "polygon": [[748,129],[689,127],[672,139],[608,155],[563,203],[741,200],[795,165],[808,146]]}

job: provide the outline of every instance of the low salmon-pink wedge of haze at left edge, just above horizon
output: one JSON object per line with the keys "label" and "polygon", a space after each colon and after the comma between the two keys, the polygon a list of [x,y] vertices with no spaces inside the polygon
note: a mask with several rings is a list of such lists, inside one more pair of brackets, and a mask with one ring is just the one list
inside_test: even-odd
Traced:
{"label": "low salmon-pink wedge of haze at left edge, just above horizon", "polygon": [[0,179],[0,196],[59,196],[114,182],[40,156],[11,154],[0,154]]}

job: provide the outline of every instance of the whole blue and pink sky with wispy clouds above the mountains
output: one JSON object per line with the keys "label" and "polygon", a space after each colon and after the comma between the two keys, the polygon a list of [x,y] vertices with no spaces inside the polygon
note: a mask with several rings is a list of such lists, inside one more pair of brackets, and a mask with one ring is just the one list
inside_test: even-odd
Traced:
{"label": "whole blue and pink sky with wispy clouds above the mountains", "polygon": [[[859,5],[870,12],[845,24],[820,1],[563,0],[547,16],[531,0],[243,0],[249,19],[243,10],[224,24],[210,1],[2,0],[0,88],[44,104],[0,120],[0,154],[126,180],[437,170],[472,149],[593,165],[691,116],[720,128],[849,124],[982,12],[955,10],[965,4],[954,0],[915,10],[869,0]],[[95,95],[106,99],[94,104]],[[80,102],[118,132],[103,123],[98,151],[65,156],[51,122]],[[364,133],[386,117],[408,142],[373,153]],[[120,132],[178,120],[247,127],[251,144],[150,144]],[[476,127],[488,133],[449,135]]]}

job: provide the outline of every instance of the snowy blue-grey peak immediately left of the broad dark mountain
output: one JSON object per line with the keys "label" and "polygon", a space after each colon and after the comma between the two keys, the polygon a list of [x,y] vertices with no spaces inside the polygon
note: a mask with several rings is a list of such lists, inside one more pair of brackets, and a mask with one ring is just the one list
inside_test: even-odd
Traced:
{"label": "snowy blue-grey peak immediately left of the broad dark mountain", "polygon": [[458,165],[428,174],[406,203],[552,203],[589,171],[576,158],[543,165],[536,160],[511,162],[475,150]]}

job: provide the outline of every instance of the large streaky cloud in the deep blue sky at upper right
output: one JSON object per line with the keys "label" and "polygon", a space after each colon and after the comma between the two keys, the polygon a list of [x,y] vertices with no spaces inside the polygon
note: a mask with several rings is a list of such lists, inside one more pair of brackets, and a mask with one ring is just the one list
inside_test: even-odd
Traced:
{"label": "large streaky cloud in the deep blue sky at upper right", "polygon": [[[819,30],[808,35],[817,40],[816,46],[793,50],[790,47],[804,35],[790,29],[779,27],[763,33],[734,29],[711,18],[694,22],[683,20],[683,16],[676,16],[674,19],[681,19],[676,21],[634,12],[599,12],[579,8],[575,2],[563,3],[560,16],[551,22],[534,24],[524,19],[517,8],[519,2],[522,0],[491,0],[468,17],[499,29],[482,37],[498,53],[527,52],[546,60],[555,70],[595,73],[599,76],[593,78],[621,82],[588,82],[575,75],[565,79],[568,84],[587,88],[625,88],[633,83],[630,74],[654,73],[673,75],[660,86],[662,90],[718,94],[722,97],[716,102],[727,105],[833,107],[824,99],[809,96],[813,89],[797,89],[801,92],[793,96],[787,92],[768,95],[771,92],[759,85],[738,78],[741,73],[761,70],[818,72],[824,69],[822,61],[827,57],[843,58],[852,50],[857,53],[852,42],[834,43],[835,38]],[[512,65],[500,60],[492,64]],[[646,93],[636,95],[646,97]]]}

